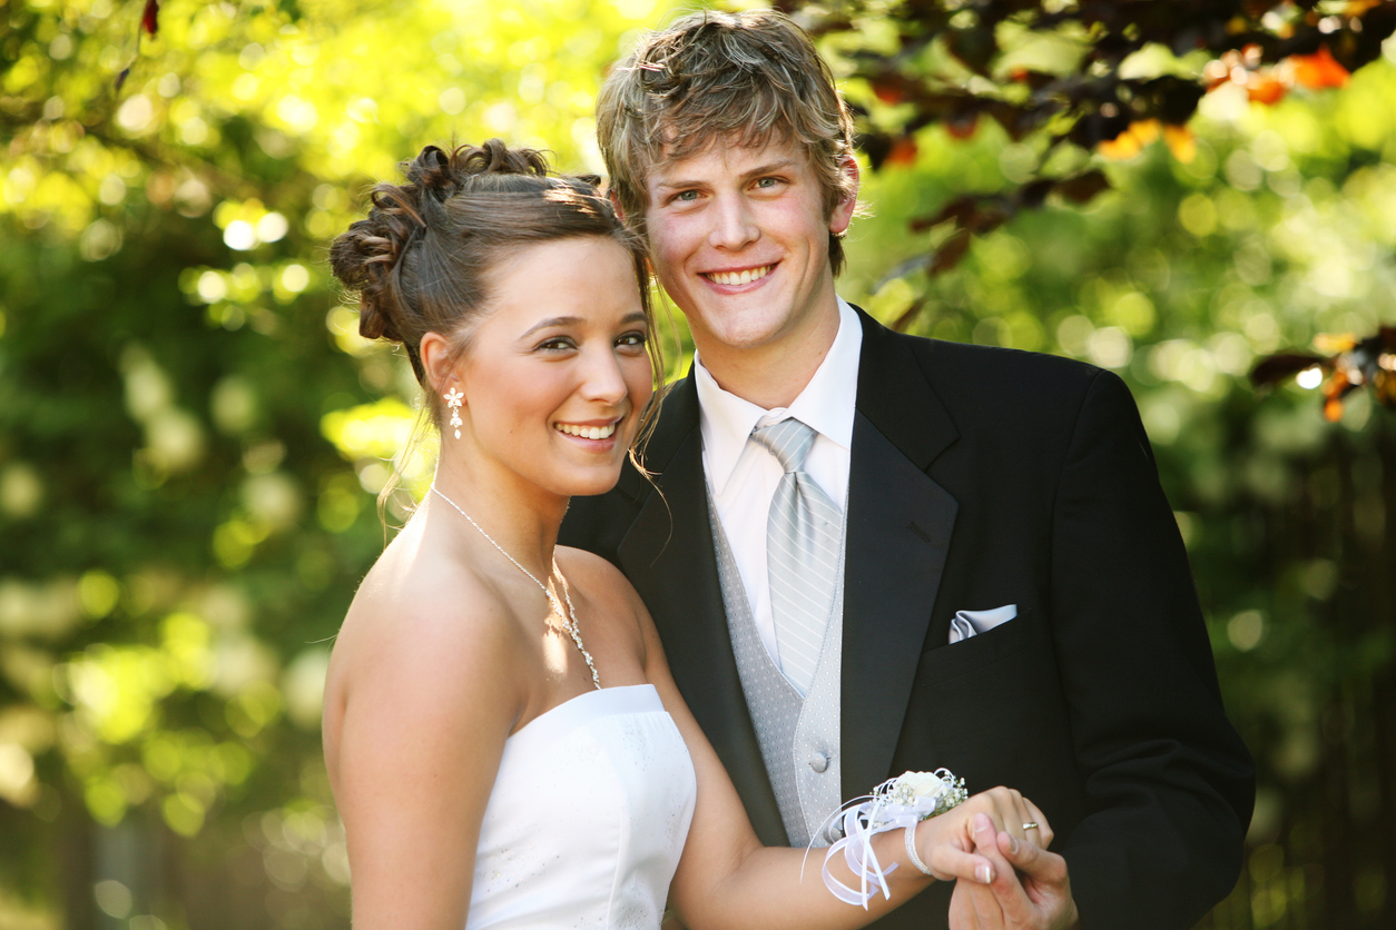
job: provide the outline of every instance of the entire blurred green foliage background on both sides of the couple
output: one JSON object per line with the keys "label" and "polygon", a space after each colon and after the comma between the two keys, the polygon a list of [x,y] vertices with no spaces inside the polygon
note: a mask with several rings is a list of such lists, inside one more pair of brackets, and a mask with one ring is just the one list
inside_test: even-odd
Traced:
{"label": "entire blurred green foliage background on both sides of the couple", "polygon": [[[599,173],[597,79],[667,10],[172,0],[138,54],[140,3],[0,10],[0,929],[346,926],[320,685],[416,388],[357,337],[328,240],[426,142]],[[1153,145],[1090,206],[884,282],[930,241],[907,219],[1037,155],[930,127],[866,173],[849,243],[840,290],[878,317],[924,298],[913,329],[1134,388],[1261,765],[1219,927],[1396,916],[1396,417],[1245,382],[1396,323],[1393,61],[1209,95],[1191,162]]]}

